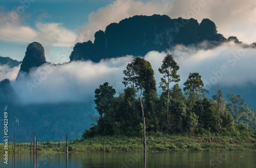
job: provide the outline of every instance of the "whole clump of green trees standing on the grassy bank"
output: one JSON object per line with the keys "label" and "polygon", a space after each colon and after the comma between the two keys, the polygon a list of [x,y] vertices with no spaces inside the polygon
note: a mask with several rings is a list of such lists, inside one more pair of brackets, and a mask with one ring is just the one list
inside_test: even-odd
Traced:
{"label": "whole clump of green trees standing on the grassy bank", "polygon": [[[170,55],[167,57],[172,60]],[[176,73],[178,65],[173,60],[170,62],[175,67],[172,70],[168,71],[166,60],[159,68],[163,77],[170,75],[163,85],[168,84],[167,81],[179,81]],[[244,125],[246,129],[255,129],[255,110],[249,109],[240,95],[228,94],[230,103],[227,103],[220,89],[212,98],[207,98],[208,91],[202,89],[204,84],[199,73],[189,74],[184,82],[185,93],[176,83],[169,90],[169,96],[166,90],[157,95],[154,70],[142,58],[135,58],[129,63],[124,75],[126,89],[119,96],[115,96],[116,91],[108,82],[95,89],[99,117],[95,118],[97,124],[83,133],[83,138],[95,135],[129,135],[143,136],[145,139],[145,131],[190,135],[203,134],[205,131],[236,134],[242,129],[237,124]],[[204,96],[199,96],[200,91],[203,91]],[[137,92],[140,92],[139,96]],[[166,108],[169,110],[168,118],[165,117]]]}

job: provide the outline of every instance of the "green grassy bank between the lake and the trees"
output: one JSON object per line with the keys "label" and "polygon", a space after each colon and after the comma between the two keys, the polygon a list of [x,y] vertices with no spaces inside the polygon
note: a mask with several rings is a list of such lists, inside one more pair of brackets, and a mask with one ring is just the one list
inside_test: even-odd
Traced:
{"label": "green grassy bank between the lake and the trees", "polygon": [[[127,137],[127,136],[96,136],[93,138],[87,138],[84,140],[76,139],[73,142],[69,142],[69,152],[84,152],[84,144],[86,145],[85,152],[102,152],[103,151],[103,139],[105,137],[105,152],[142,152],[143,144],[140,137]],[[183,135],[168,135],[162,133],[156,133],[154,135],[148,135],[147,151],[148,152],[178,152],[178,151],[256,151],[256,137],[255,136],[220,136],[215,134],[209,135],[195,135],[190,136],[188,134]],[[0,152],[4,153],[4,144],[0,145]],[[30,153],[31,144],[23,143],[19,153]],[[33,153],[33,144],[32,149]],[[8,153],[12,153],[12,143],[8,144]],[[39,153],[50,152],[66,152],[66,142],[45,143],[45,147],[42,143],[38,144]],[[17,153],[17,144],[15,148]]]}

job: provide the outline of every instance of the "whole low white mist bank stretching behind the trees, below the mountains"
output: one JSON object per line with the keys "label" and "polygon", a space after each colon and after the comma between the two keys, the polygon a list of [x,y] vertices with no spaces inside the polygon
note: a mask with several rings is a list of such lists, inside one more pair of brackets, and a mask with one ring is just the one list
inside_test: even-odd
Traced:
{"label": "whole low white mist bank stretching behind the trees, below the mountains", "polygon": [[[232,42],[214,49],[201,48],[179,45],[168,51],[180,66],[178,74],[181,76],[181,88],[190,72],[199,72],[208,90],[217,85],[231,87],[256,83],[253,73],[256,71],[256,49],[243,48]],[[158,68],[166,54],[151,51],[145,55],[155,71],[157,83],[162,77]],[[101,60],[100,63],[87,61],[57,66],[45,64],[32,70],[28,77],[13,81],[12,86],[23,103],[92,101],[94,90],[104,82],[109,82],[117,92],[123,91],[123,70],[132,60],[130,55]],[[158,91],[160,93],[161,89]]]}

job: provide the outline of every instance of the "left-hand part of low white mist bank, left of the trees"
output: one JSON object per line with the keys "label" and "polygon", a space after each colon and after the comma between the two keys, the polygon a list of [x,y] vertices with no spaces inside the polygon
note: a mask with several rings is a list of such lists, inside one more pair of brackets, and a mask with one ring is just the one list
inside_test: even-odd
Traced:
{"label": "left-hand part of low white mist bank, left of the trees", "polygon": [[100,63],[71,62],[45,64],[31,70],[29,76],[13,81],[12,86],[22,103],[84,102],[94,99],[94,90],[109,82],[117,92],[124,89],[122,73],[131,56]]}

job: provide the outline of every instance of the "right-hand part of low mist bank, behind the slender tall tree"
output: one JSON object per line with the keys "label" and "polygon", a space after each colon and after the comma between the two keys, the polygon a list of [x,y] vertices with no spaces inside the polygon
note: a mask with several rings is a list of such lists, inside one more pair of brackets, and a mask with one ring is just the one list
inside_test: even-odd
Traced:
{"label": "right-hand part of low mist bank, behind the slender tall tree", "polygon": [[[199,72],[206,89],[215,86],[242,86],[245,83],[255,83],[256,62],[255,48],[243,48],[233,42],[224,43],[214,49],[198,49],[178,45],[169,51],[180,66],[180,87],[186,81],[189,73]],[[145,59],[151,62],[159,82],[161,74],[158,67],[167,53],[151,51]]]}

